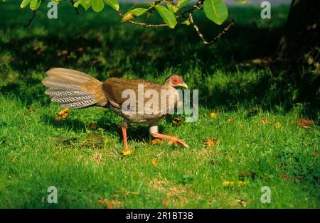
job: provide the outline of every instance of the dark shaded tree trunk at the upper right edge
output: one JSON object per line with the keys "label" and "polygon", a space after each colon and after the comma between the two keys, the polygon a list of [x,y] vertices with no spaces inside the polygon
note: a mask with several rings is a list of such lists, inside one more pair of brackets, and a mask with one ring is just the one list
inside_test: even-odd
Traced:
{"label": "dark shaded tree trunk at the upper right edge", "polygon": [[276,53],[276,64],[292,71],[320,67],[320,1],[292,0],[287,24]]}

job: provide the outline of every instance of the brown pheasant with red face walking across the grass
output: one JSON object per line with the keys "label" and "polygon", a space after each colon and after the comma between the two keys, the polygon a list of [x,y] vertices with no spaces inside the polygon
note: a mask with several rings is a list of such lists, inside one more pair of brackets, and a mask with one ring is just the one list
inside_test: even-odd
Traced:
{"label": "brown pheasant with red face walking across the grass", "polygon": [[[65,68],[52,68],[46,74],[49,77],[46,77],[42,81],[43,85],[48,87],[45,93],[52,97],[51,100],[53,102],[59,102],[60,107],[70,107],[73,109],[92,106],[109,107],[114,113],[122,116],[124,118],[121,124],[124,150],[128,149],[127,127],[130,123],[146,124],[149,126],[149,134],[154,138],[164,138],[176,146],[181,144],[188,148],[188,145],[176,136],[159,134],[158,128],[159,121],[168,114],[170,109],[173,109],[178,104],[178,91],[176,87],[188,88],[182,77],[171,75],[166,79],[164,85],[160,85],[150,80],[129,80],[121,77],[111,77],[105,80],[105,82],[100,82],[83,72]],[[139,94],[141,93],[141,86],[143,86],[143,94],[148,92],[148,90],[155,90],[161,95],[161,92],[165,90],[165,97],[161,97],[157,101],[159,104],[161,104],[162,99],[168,102],[169,97],[172,97],[172,95],[174,95],[174,103],[166,103],[165,107],[161,108],[153,105],[152,111],[144,109],[142,112],[128,112],[132,111],[133,108],[139,107],[139,103],[143,102],[146,104],[148,101],[146,97],[141,99],[138,95],[138,99],[136,97],[134,102],[127,106],[127,110],[124,109],[124,104],[127,103],[127,99],[123,97],[124,92],[129,89],[135,94]]]}

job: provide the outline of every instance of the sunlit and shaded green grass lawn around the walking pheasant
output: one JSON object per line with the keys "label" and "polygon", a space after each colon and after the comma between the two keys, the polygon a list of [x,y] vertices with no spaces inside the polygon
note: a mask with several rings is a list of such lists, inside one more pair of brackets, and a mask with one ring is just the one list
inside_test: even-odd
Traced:
{"label": "sunlit and shaded green grass lawn around the walking pheasant", "polygon": [[[237,200],[244,200],[246,208],[319,208],[319,126],[296,123],[319,120],[318,98],[299,96],[297,84],[282,82],[281,70],[275,77],[268,67],[240,66],[272,55],[288,6],[272,9],[270,21],[260,19],[259,8],[230,9],[237,26],[210,48],[188,27],[145,29],[119,23],[111,10],[80,16],[68,4],[59,10],[58,21],[42,11],[22,28],[30,12],[14,1],[0,4],[0,207],[105,208],[109,200],[121,208],[243,208]],[[201,15],[196,19],[206,36],[222,30]],[[41,85],[50,67],[100,80],[121,75],[164,82],[171,73],[183,75],[199,89],[199,119],[174,126],[168,117],[160,127],[190,148],[151,146],[148,128],[133,125],[129,145],[136,151],[122,157],[122,119],[109,109],[70,110],[65,121],[55,121],[60,108]],[[102,139],[88,143],[90,123]],[[215,145],[204,146],[213,137]],[[256,177],[223,187],[242,180],[243,170]],[[46,202],[50,186],[58,187],[58,204]],[[270,204],[260,202],[262,186],[271,189]]]}

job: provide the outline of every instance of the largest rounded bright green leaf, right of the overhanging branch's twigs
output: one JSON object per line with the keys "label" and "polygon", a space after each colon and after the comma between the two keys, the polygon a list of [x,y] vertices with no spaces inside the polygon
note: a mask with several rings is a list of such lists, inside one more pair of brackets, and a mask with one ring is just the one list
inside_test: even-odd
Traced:
{"label": "largest rounded bright green leaf, right of the overhanging branch's twigs", "polygon": [[223,2],[223,0],[206,0],[203,3],[203,11],[206,16],[221,25],[226,18],[228,18],[228,8]]}

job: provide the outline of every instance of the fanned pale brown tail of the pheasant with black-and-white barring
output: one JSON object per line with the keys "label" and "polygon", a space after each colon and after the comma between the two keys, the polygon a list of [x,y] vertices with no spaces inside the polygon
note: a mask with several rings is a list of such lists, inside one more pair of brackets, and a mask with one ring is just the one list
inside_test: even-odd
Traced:
{"label": "fanned pale brown tail of the pheasant with black-and-white barring", "polygon": [[53,68],[46,72],[49,75],[42,81],[48,87],[46,94],[61,107],[81,109],[92,105],[105,107],[107,98],[102,92],[102,82],[85,73]]}

